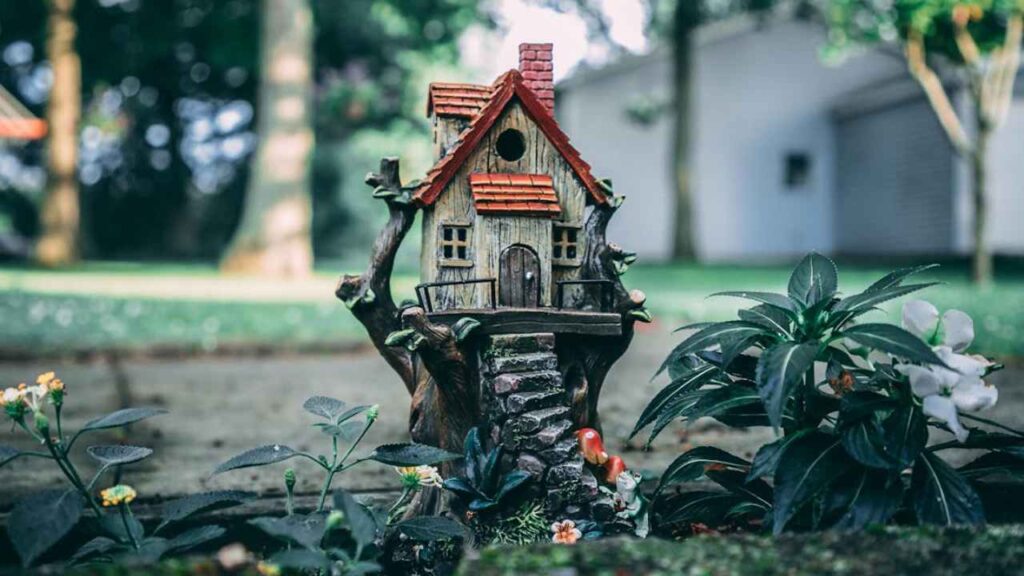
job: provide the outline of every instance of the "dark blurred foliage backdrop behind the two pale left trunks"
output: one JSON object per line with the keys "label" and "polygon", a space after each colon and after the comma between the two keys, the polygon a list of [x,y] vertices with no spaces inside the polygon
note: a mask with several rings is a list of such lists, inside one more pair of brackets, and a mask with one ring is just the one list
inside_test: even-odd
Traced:
{"label": "dark blurred foliage backdrop behind the two pale left trunks", "polygon": [[[476,0],[310,1],[314,244],[338,255],[342,231],[361,219],[342,198],[362,192],[343,189],[345,172],[367,169],[346,165],[344,142],[372,129],[426,148],[420,72],[455,66],[462,31],[490,19]],[[256,145],[259,0],[79,0],[75,17],[85,253],[216,257],[238,223]],[[0,83],[40,116],[51,81],[45,25],[45,2],[0,3]],[[0,211],[23,236],[35,232],[27,222],[44,181],[41,146],[0,150]]]}

